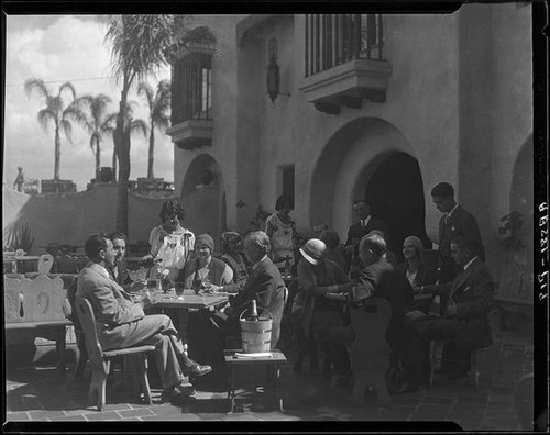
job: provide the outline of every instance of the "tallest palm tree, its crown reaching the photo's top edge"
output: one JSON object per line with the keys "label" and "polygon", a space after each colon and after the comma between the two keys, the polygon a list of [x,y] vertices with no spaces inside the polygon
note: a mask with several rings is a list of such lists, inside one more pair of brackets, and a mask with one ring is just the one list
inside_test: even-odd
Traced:
{"label": "tallest palm tree, its crown reaching the photo's top edge", "polygon": [[113,133],[119,158],[117,230],[128,234],[128,185],[130,178],[130,124],[124,108],[134,80],[145,79],[168,62],[173,42],[183,32],[176,15],[108,15],[106,43],[110,45],[113,76],[122,81],[119,115]]}

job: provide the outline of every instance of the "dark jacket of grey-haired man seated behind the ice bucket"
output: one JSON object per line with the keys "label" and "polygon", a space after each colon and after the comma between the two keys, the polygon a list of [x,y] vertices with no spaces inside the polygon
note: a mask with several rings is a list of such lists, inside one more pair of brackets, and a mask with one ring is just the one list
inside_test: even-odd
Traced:
{"label": "dark jacket of grey-haired man seated behind the ice bucket", "polygon": [[273,261],[265,257],[246,279],[242,291],[230,297],[230,304],[234,309],[233,321],[255,299],[260,308],[266,309],[273,316],[272,324],[272,348],[277,345],[280,336],[280,320],[283,317],[285,297],[285,281]]}

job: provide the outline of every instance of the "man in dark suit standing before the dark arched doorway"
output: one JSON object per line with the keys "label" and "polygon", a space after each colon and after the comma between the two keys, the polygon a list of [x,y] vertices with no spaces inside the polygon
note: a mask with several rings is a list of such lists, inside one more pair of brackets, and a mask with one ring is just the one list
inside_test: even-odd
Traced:
{"label": "man in dark suit standing before the dark arched doorway", "polygon": [[371,207],[364,200],[355,200],[352,204],[352,210],[359,221],[348,230],[348,239],[344,245],[345,260],[348,265],[354,264],[359,258],[359,242],[373,230],[382,231],[384,238],[389,239],[389,230],[384,221],[373,219],[371,216]]}

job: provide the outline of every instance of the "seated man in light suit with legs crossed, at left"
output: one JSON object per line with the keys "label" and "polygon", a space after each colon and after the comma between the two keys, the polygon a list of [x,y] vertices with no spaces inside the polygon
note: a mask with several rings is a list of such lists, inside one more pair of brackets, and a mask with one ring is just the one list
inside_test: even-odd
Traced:
{"label": "seated man in light suit with legs crossed, at left", "polygon": [[76,297],[90,301],[102,348],[154,345],[153,357],[163,383],[163,399],[180,404],[187,395],[194,394],[193,388],[182,387],[185,376],[202,376],[211,368],[186,356],[169,317],[145,315],[143,309],[151,303],[148,298],[140,303],[132,302],[112,279],[108,269],[114,266],[114,249],[108,237],[92,235],[86,241],[85,250],[90,261],[80,271]]}

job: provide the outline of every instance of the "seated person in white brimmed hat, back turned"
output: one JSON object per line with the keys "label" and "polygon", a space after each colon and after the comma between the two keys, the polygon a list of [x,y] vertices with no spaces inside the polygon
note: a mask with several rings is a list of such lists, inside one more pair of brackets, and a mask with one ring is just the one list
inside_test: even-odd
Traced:
{"label": "seated person in white brimmed hat, back turned", "polygon": [[300,248],[298,282],[305,297],[301,323],[306,337],[312,332],[327,344],[328,356],[334,366],[332,384],[337,387],[345,384],[350,376],[348,350],[333,334],[344,324],[342,303],[324,295],[350,291],[352,285],[337,263],[324,258],[326,252],[326,244],[318,238],[311,238]]}

